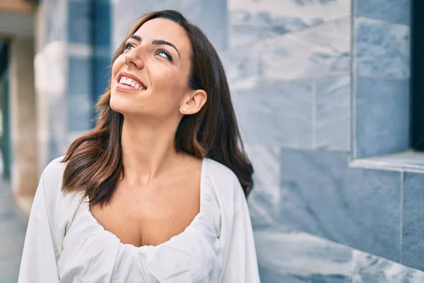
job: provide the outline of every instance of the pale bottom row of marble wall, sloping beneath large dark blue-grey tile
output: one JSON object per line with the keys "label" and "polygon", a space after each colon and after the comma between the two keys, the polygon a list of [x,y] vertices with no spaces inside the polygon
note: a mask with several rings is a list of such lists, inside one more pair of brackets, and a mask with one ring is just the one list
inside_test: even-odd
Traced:
{"label": "pale bottom row of marble wall, sloping beneath large dark blue-grey tile", "polygon": [[424,272],[288,226],[254,231],[261,282],[418,283]]}

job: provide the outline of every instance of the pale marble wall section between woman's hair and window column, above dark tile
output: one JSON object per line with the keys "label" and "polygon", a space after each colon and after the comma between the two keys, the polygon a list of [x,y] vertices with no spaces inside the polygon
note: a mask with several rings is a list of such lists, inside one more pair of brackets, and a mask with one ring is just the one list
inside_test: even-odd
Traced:
{"label": "pale marble wall section between woman's hair and window column, above dark tile", "polygon": [[339,0],[228,1],[221,56],[245,142],[350,149],[350,10]]}

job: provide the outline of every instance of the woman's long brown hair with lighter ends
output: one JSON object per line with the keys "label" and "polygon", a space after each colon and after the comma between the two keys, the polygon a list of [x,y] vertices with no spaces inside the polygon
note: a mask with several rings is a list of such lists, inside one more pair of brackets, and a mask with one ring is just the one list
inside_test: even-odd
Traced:
{"label": "woman's long brown hair with lighter ends", "polygon": [[[230,168],[242,184],[245,196],[253,186],[252,164],[245,154],[232,108],[230,89],[223,65],[206,35],[177,11],[156,11],[141,17],[119,46],[112,64],[124,51],[124,43],[141,25],[154,18],[166,18],[186,30],[192,43],[189,87],[208,94],[204,107],[184,115],[175,133],[175,148],[198,158],[208,157]],[[110,108],[110,83],[98,100],[97,124],[69,146],[62,162],[64,192],[82,191],[90,204],[106,204],[124,175],[121,133],[124,116]]]}

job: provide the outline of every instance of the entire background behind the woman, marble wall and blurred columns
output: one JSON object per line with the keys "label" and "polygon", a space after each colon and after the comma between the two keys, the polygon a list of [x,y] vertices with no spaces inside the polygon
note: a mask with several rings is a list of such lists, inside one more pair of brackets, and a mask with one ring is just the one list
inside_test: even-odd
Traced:
{"label": "entire background behind the woman, marble wall and blurred columns", "polygon": [[0,282],[17,282],[40,173],[93,127],[114,50],[165,8],[225,65],[262,282],[424,282],[418,0],[0,0]]}

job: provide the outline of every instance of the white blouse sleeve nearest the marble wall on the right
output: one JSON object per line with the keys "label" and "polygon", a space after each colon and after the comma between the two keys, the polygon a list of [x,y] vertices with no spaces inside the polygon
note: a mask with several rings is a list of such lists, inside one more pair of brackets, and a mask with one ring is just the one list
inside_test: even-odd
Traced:
{"label": "white blouse sleeve nearest the marble wall on the right", "polygon": [[216,190],[220,207],[220,244],[223,275],[220,282],[260,282],[257,254],[247,200],[237,176],[211,161],[208,181]]}

